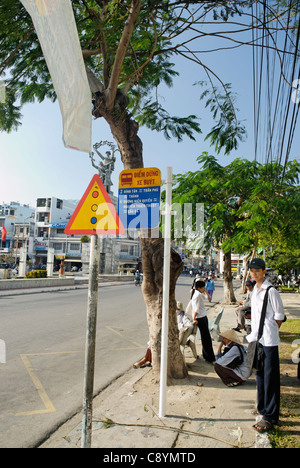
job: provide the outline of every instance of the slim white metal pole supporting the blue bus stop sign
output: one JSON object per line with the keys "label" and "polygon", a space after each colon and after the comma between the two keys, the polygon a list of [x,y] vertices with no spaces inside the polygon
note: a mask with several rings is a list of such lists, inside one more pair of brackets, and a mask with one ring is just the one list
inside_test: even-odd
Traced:
{"label": "slim white metal pole supporting the blue bus stop sign", "polygon": [[164,277],[160,358],[160,396],[159,417],[166,414],[166,391],[168,372],[168,331],[169,331],[169,296],[170,296],[170,261],[171,261],[171,205],[172,205],[172,167],[167,167],[166,203],[165,203],[165,245]]}

